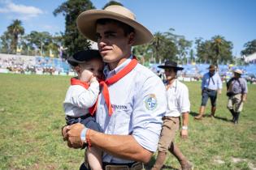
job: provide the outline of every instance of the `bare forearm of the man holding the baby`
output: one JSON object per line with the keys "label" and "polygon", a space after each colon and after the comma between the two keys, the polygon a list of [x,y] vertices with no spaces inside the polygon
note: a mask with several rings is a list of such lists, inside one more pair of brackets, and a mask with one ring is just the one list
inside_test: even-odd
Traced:
{"label": "bare forearm of the man holding the baby", "polygon": [[91,130],[89,141],[111,155],[147,163],[153,153],[141,147],[132,135],[109,135]]}

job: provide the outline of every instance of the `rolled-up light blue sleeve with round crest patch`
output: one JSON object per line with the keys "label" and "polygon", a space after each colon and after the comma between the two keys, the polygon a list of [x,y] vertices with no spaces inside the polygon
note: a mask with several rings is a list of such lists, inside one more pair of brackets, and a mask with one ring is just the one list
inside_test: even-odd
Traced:
{"label": "rolled-up light blue sleeve with round crest patch", "polygon": [[132,136],[149,151],[156,151],[167,109],[166,90],[161,79],[152,76],[137,89],[132,113]]}

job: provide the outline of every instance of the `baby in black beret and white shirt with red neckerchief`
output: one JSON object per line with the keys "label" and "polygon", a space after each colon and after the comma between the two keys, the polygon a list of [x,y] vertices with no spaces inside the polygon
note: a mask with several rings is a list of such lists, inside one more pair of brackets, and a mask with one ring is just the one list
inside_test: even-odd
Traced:
{"label": "baby in black beret and white shirt with red neckerchief", "polygon": [[[67,59],[67,62],[77,73],[77,77],[71,79],[63,104],[67,125],[80,122],[92,130],[102,131],[95,117],[89,113],[89,108],[98,98],[97,79],[102,79],[103,62],[100,53],[93,49],[80,51]],[[102,155],[98,148],[87,149],[86,156],[91,169],[102,169]]]}

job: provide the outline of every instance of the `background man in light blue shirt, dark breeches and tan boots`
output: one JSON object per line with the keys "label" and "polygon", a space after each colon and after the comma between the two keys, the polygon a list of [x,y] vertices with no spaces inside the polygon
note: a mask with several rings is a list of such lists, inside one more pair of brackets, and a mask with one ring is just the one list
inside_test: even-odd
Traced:
{"label": "background man in light blue shirt, dark breeches and tan boots", "polygon": [[215,72],[215,65],[210,65],[208,69],[209,72],[202,77],[202,103],[199,109],[199,115],[194,117],[196,120],[202,119],[209,97],[211,103],[210,117],[215,117],[217,93],[219,92],[221,94],[222,81],[219,74]]}

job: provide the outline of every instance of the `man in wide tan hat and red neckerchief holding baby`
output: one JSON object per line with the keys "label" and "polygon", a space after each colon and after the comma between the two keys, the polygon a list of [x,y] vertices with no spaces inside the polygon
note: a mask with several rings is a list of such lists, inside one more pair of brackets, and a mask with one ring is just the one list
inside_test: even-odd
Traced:
{"label": "man in wide tan hat and red neckerchief holding baby", "polygon": [[148,43],[153,36],[124,6],[85,11],[76,23],[85,37],[98,42],[107,64],[96,104],[103,133],[68,126],[63,129],[67,145],[80,148],[87,142],[101,148],[103,169],[142,169],[141,162],[150,161],[157,149],[167,99],[161,79],[138,64],[131,51],[132,45]]}

